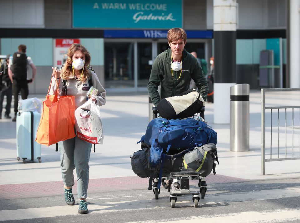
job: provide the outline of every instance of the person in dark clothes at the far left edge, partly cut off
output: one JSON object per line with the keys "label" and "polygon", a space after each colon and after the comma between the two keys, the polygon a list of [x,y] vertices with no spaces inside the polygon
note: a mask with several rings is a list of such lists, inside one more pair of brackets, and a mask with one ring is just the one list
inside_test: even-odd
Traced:
{"label": "person in dark clothes at the far left edge, partly cut off", "polygon": [[0,67],[0,119],[2,118],[2,108],[3,108],[3,100],[4,96],[6,96],[6,106],[5,106],[5,118],[12,118],[10,117],[10,107],[12,103],[12,81],[8,75],[8,64],[9,64],[9,57],[7,55],[6,60]]}

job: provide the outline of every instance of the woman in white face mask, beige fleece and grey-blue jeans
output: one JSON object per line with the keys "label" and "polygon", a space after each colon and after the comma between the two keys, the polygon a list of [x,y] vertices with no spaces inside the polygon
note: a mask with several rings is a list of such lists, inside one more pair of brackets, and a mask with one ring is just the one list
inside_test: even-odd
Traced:
{"label": "woman in white face mask, beige fleece and grey-blue jeans", "polygon": [[[59,81],[59,92],[63,95],[63,80],[66,80],[68,87],[67,95],[75,96],[75,109],[87,101],[86,93],[90,89],[89,78],[92,78],[93,87],[98,89],[98,94],[91,97],[96,105],[105,104],[106,91],[100,84],[98,76],[91,70],[88,70],[91,56],[88,50],[81,44],[72,44],[68,49],[68,59],[62,70],[53,67],[53,78],[62,79]],[[52,81],[50,94],[56,92],[56,81]],[[59,115],[59,114],[58,114]],[[77,136],[72,139],[58,142],[60,151],[60,165],[64,183],[65,201],[68,205],[74,205],[72,187],[74,186],[73,170],[77,174],[77,190],[79,207],[78,214],[88,213],[88,203],[86,201],[89,179],[89,158],[92,144],[81,140]]]}

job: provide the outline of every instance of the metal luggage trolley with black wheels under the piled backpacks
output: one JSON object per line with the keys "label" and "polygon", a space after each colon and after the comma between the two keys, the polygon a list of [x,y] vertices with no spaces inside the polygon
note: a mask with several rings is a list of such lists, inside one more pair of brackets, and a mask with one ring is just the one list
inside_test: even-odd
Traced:
{"label": "metal luggage trolley with black wheels under the piled backpacks", "polygon": [[[200,117],[204,119],[204,110],[205,107],[203,106],[200,111],[198,112],[200,114]],[[153,107],[153,119],[158,117],[158,110],[157,107]],[[193,195],[193,202],[194,207],[198,207],[198,202],[200,200],[200,197],[203,199],[205,197],[205,193],[207,190],[207,184],[205,181],[205,177],[200,176],[199,172],[195,171],[188,171],[186,169],[182,169],[180,172],[171,172],[170,176],[163,177],[162,178],[162,184],[164,184],[165,180],[169,180],[168,189],[170,192],[170,202],[171,207],[175,207],[175,203],[177,201],[177,196],[180,195]],[[171,191],[171,185],[173,184],[173,179],[178,179],[180,182],[180,191]],[[190,190],[190,181],[189,180],[198,180],[198,186],[199,191],[191,191]],[[165,186],[164,186],[165,187]],[[166,187],[165,187],[166,188]],[[160,189],[158,189],[158,179],[154,178],[154,184],[153,184],[153,193],[155,194],[155,199],[158,199]]]}

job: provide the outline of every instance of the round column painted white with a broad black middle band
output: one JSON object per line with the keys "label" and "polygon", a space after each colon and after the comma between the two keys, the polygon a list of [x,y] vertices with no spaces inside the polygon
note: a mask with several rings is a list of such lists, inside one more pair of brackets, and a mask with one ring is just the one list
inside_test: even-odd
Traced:
{"label": "round column painted white with a broad black middle band", "polygon": [[236,0],[213,1],[214,123],[230,122],[230,86],[236,83]]}

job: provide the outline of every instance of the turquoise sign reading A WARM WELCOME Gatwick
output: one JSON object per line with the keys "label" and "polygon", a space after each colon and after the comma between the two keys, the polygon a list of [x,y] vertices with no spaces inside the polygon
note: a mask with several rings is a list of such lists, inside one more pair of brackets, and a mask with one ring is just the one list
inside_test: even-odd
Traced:
{"label": "turquoise sign reading A WARM WELCOME Gatwick", "polygon": [[75,28],[182,27],[182,0],[73,0]]}

